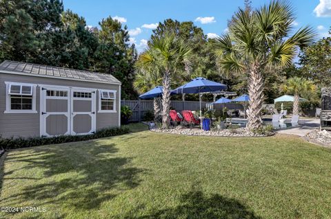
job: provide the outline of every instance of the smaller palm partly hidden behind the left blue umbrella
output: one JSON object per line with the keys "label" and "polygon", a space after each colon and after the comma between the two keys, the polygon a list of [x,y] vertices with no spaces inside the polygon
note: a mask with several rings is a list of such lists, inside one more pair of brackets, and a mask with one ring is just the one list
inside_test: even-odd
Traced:
{"label": "smaller palm partly hidden behind the left blue umbrella", "polygon": [[[150,71],[139,71],[139,68],[137,68],[137,72],[134,77],[133,87],[138,91],[138,93],[146,93],[150,89],[159,86],[161,82],[162,77],[158,69],[150,69]],[[159,102],[159,97],[153,99],[155,121],[158,121],[159,115],[161,115],[161,107]]]}

